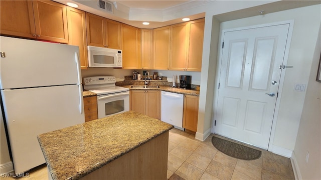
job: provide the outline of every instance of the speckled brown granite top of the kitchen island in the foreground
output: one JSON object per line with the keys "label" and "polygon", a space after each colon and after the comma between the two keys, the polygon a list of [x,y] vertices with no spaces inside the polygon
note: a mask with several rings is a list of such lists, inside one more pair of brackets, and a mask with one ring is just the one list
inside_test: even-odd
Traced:
{"label": "speckled brown granite top of the kitchen island in the foreground", "polygon": [[79,179],[174,126],[127,111],[38,135],[53,179]]}

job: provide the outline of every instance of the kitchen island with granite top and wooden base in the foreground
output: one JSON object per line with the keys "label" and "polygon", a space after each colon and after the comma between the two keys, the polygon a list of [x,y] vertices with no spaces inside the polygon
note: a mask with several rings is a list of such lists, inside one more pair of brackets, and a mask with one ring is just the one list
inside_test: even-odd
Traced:
{"label": "kitchen island with granite top and wooden base in the foreground", "polygon": [[38,135],[52,179],[167,179],[173,125],[127,111]]}

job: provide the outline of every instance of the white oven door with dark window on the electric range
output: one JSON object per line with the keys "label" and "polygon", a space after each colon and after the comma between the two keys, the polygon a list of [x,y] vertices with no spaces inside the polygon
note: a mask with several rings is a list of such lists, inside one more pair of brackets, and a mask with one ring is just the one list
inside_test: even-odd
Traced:
{"label": "white oven door with dark window on the electric range", "polygon": [[98,95],[98,118],[107,117],[129,110],[129,91],[115,94]]}

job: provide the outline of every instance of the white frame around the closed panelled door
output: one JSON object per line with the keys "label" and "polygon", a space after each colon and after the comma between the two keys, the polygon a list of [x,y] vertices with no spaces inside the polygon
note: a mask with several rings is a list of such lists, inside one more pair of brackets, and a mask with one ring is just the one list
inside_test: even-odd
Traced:
{"label": "white frame around the closed panelled door", "polygon": [[[236,27],[236,28],[229,28],[229,29],[221,29],[220,30],[220,41],[219,41],[219,49],[218,49],[218,57],[217,57],[217,69],[216,69],[216,74],[215,74],[215,88],[218,89],[219,87],[219,82],[220,82],[220,77],[221,77],[221,65],[222,65],[222,55],[223,55],[223,48],[222,48],[222,43],[224,41],[224,33],[228,31],[236,31],[236,30],[245,30],[245,29],[251,29],[251,28],[259,28],[259,27],[266,27],[266,26],[274,26],[274,25],[281,25],[281,24],[289,24],[289,30],[288,30],[288,36],[287,36],[287,41],[286,41],[286,46],[285,46],[285,51],[284,51],[284,59],[283,59],[283,64],[287,64],[288,60],[288,55],[290,51],[290,45],[291,45],[291,39],[292,39],[292,32],[293,32],[293,26],[294,26],[294,19],[293,20],[285,20],[285,21],[278,21],[278,22],[271,22],[271,23],[263,23],[263,24],[256,24],[256,25],[251,25],[251,26],[243,26],[243,27]],[[283,65],[282,64],[282,65]],[[282,90],[283,90],[283,83],[284,83],[284,78],[285,78],[285,72],[286,68],[282,69],[281,71],[281,76],[280,76],[280,81],[279,81],[279,88],[278,88],[278,97],[276,98],[276,103],[275,103],[275,110],[274,110],[274,115],[273,115],[273,120],[272,120],[272,127],[271,127],[271,133],[270,133],[270,140],[268,144],[268,151],[272,151],[273,148],[273,140],[274,140],[274,134],[275,134],[275,129],[276,129],[276,123],[277,123],[277,117],[278,117],[278,112],[279,112],[279,107],[280,107],[280,100],[282,97]],[[212,114],[212,133],[215,133],[215,120],[216,120],[216,114],[217,114],[217,107],[218,107],[218,95],[219,95],[219,90],[214,91],[214,99],[213,99],[213,114]]]}

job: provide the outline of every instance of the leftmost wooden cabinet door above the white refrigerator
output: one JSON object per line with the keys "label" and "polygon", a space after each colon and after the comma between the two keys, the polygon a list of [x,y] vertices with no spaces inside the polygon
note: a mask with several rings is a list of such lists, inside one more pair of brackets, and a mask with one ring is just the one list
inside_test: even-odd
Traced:
{"label": "leftmost wooden cabinet door above the white refrigerator", "polygon": [[1,34],[36,38],[34,12],[30,0],[2,0]]}

